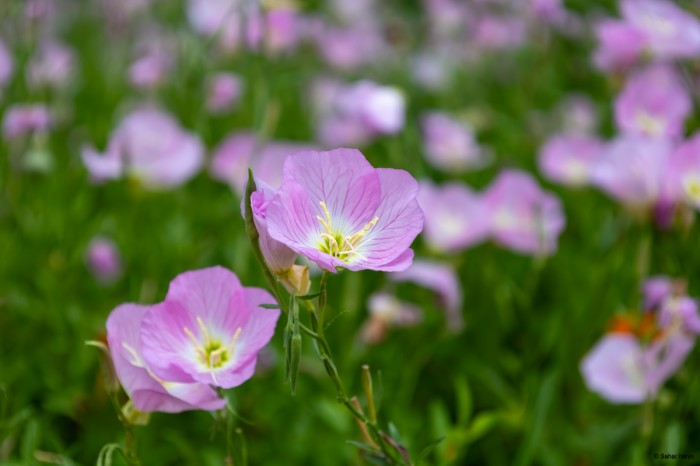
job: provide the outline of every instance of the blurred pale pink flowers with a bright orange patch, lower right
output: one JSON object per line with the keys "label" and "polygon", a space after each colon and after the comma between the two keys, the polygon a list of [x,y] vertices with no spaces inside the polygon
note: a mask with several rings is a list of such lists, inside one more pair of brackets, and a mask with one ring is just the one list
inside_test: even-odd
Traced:
{"label": "blurred pale pink flowers with a bright orange patch, lower right", "polygon": [[668,277],[644,283],[643,312],[613,319],[581,363],[588,387],[612,403],[654,399],[700,334],[698,304]]}

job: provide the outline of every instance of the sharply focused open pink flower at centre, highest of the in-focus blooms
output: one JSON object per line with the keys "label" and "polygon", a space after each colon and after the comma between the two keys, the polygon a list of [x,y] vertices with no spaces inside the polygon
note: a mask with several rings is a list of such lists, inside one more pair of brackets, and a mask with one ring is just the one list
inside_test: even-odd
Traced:
{"label": "sharply focused open pink flower at centre, highest of the in-focus blooms", "polygon": [[323,269],[400,271],[423,229],[418,182],[373,168],[356,149],[299,152],[267,208],[270,236]]}

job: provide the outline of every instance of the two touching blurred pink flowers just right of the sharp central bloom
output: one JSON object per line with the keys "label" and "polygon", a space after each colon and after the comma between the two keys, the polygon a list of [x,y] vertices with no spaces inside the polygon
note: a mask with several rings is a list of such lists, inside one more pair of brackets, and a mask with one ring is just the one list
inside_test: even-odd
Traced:
{"label": "two touching blurred pink flowers just right of the sharp central bloom", "polygon": [[519,170],[502,171],[480,194],[458,182],[424,182],[418,200],[425,241],[444,253],[492,239],[523,254],[550,255],[566,223],[559,200]]}

